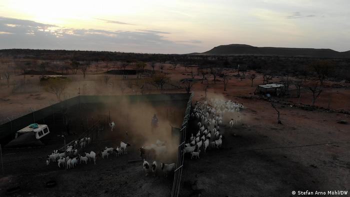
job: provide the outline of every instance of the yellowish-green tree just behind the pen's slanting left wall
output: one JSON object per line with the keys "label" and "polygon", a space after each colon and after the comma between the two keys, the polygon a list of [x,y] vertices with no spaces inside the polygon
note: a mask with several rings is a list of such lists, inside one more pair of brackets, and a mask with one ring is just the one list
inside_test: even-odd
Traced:
{"label": "yellowish-green tree just behind the pen's slanting left wall", "polygon": [[56,95],[58,101],[61,101],[61,95],[63,91],[67,88],[70,80],[68,78],[50,78],[47,80],[44,89],[47,92]]}

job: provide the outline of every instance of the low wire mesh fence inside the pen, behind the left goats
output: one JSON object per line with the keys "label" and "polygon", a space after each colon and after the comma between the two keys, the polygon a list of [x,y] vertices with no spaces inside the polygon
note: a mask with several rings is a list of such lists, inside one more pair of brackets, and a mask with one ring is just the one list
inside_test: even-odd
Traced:
{"label": "low wire mesh fence inside the pen, behind the left goats", "polygon": [[[54,150],[65,152],[65,155],[77,156],[87,149],[102,145],[98,144],[101,139],[100,132],[104,130],[105,122],[99,119],[92,122],[91,126],[81,133],[76,139],[65,143],[65,136],[58,135],[57,138],[61,138],[63,143],[57,143],[53,145],[34,146],[34,147],[22,147],[22,148],[3,148],[0,144],[0,161],[2,174],[18,174],[28,172],[45,172],[57,170],[57,165],[46,165],[46,159]],[[82,139],[80,141],[80,139]],[[77,145],[74,141],[78,140]],[[80,143],[82,142],[82,143]],[[66,147],[73,145],[76,149],[75,154],[68,154]],[[105,143],[103,143],[105,145]]]}

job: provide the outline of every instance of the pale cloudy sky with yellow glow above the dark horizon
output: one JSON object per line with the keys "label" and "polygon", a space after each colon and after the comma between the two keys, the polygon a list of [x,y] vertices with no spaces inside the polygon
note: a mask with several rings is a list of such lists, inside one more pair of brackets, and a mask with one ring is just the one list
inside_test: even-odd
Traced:
{"label": "pale cloudy sky with yellow glow above the dark horizon", "polygon": [[204,52],[221,44],[350,50],[350,0],[1,0],[0,48]]}

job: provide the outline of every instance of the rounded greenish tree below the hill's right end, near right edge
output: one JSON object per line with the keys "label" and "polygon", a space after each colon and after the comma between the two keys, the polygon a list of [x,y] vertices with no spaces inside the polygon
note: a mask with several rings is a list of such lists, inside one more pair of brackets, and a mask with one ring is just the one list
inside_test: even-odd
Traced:
{"label": "rounded greenish tree below the hill's right end, near right edge", "polygon": [[320,85],[323,85],[323,80],[334,71],[334,65],[329,60],[314,61],[310,67],[316,72]]}

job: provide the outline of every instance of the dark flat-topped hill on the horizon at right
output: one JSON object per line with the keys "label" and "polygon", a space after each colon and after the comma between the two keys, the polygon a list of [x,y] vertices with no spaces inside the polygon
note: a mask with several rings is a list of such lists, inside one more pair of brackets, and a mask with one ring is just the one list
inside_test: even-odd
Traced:
{"label": "dark flat-topped hill on the horizon at right", "polygon": [[327,58],[350,58],[350,51],[338,52],[329,48],[286,48],[256,47],[247,44],[228,44],[215,46],[211,50],[197,53],[205,55],[277,55],[307,56]]}

